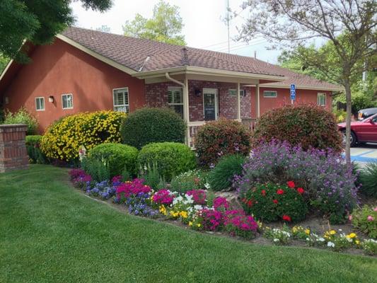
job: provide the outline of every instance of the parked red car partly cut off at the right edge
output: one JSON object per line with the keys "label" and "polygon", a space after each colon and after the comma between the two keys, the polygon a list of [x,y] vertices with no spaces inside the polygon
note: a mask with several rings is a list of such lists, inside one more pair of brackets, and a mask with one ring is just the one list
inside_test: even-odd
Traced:
{"label": "parked red car partly cut off at the right edge", "polygon": [[[346,134],[346,123],[337,125],[340,131]],[[351,122],[351,146],[364,142],[377,142],[377,114],[372,115],[362,121]]]}

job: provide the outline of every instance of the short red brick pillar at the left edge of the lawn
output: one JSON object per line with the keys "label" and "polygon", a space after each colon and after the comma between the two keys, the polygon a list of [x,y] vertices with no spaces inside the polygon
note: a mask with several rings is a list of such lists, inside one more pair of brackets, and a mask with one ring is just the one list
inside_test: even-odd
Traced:
{"label": "short red brick pillar at the left edge of the lawn", "polygon": [[0,172],[28,168],[27,125],[0,125]]}

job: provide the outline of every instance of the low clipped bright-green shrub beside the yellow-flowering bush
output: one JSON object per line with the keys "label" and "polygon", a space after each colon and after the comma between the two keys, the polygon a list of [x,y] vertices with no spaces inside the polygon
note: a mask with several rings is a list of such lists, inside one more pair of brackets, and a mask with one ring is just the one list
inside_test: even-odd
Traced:
{"label": "low clipped bright-green shrub beside the yellow-flowering bush", "polygon": [[110,177],[122,175],[127,171],[131,175],[137,173],[137,155],[134,146],[126,144],[99,144],[88,152],[88,158],[102,161],[108,166]]}

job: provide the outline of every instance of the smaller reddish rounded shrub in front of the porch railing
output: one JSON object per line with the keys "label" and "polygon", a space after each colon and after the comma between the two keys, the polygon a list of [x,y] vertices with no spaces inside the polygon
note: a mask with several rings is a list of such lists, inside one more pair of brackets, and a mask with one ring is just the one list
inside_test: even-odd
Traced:
{"label": "smaller reddish rounded shrub in front of the porch railing", "polygon": [[195,148],[201,166],[213,166],[221,156],[248,155],[250,132],[240,122],[220,119],[208,122],[197,131]]}

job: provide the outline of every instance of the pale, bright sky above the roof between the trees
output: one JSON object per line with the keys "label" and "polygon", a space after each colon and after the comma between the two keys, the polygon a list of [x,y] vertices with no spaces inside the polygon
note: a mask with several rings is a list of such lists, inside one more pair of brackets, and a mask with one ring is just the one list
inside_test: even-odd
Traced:
{"label": "pale, bright sky above the roof between the trees", "polygon": [[[240,5],[244,0],[229,0],[233,11],[241,11]],[[226,17],[226,0],[168,0],[170,4],[180,7],[180,16],[185,27],[182,30],[187,45],[220,52],[228,52],[228,33],[226,24],[222,19]],[[136,13],[149,18],[152,15],[153,6],[158,0],[114,0],[114,5],[105,13],[86,11],[80,2],[73,2],[71,7],[76,17],[76,25],[81,28],[99,28],[108,25],[111,33],[122,34],[122,25],[127,20],[132,20]],[[247,18],[247,12],[233,19],[230,25],[231,38],[238,35],[237,28]],[[273,64],[277,63],[279,50],[267,50],[268,42],[262,38],[256,38],[251,42],[235,42],[231,40],[231,53],[245,56],[254,56]]]}

